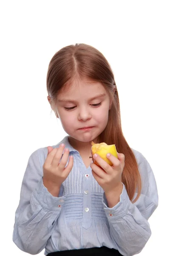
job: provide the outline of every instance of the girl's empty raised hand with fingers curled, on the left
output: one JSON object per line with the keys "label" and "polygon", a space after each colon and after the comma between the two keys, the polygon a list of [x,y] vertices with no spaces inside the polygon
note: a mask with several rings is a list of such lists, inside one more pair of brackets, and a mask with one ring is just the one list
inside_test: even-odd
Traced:
{"label": "girl's empty raised hand with fingers curled, on the left", "polygon": [[59,148],[52,148],[51,146],[47,148],[48,155],[43,165],[43,183],[52,195],[58,196],[62,182],[73,168],[73,156],[70,156],[68,165],[65,167],[69,157],[69,149],[65,148],[64,144],[59,145]]}

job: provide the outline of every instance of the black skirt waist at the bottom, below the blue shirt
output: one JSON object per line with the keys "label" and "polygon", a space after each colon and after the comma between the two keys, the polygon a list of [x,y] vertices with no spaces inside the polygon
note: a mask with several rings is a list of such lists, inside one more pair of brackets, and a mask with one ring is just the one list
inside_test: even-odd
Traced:
{"label": "black skirt waist at the bottom, below the blue shirt", "polygon": [[47,256],[122,256],[118,250],[110,249],[108,247],[93,247],[86,249],[64,250],[54,253],[48,253]]}

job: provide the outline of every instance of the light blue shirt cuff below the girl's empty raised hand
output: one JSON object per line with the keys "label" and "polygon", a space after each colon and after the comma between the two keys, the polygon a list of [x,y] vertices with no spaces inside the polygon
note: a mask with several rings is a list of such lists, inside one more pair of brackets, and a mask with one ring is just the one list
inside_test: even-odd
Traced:
{"label": "light blue shirt cuff below the girl's empty raised hand", "polygon": [[48,192],[48,189],[44,186],[43,180],[41,178],[37,184],[37,189],[35,189],[33,192],[33,198],[35,198],[39,202],[42,208],[52,211],[60,211],[66,198],[65,196],[63,196],[64,190],[65,189],[62,184],[59,190],[59,196],[55,197],[51,195],[51,193]]}

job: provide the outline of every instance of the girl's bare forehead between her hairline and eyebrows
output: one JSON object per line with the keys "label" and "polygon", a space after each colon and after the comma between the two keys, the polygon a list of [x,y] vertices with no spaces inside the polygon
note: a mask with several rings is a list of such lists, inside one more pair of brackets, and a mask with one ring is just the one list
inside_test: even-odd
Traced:
{"label": "girl's bare forehead between her hairline and eyebrows", "polygon": [[84,97],[91,98],[95,94],[106,93],[105,87],[100,82],[88,81],[85,79],[75,79],[66,84],[57,96],[57,99],[63,97]]}

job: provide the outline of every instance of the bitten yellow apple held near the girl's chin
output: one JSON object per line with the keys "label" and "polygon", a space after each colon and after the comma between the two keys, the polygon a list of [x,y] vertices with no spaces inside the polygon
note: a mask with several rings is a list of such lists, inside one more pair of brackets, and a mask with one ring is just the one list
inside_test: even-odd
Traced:
{"label": "bitten yellow apple held near the girl's chin", "polygon": [[[117,151],[116,151],[116,146],[115,144],[113,145],[107,145],[106,143],[94,143],[93,141],[91,142],[91,153],[92,153],[92,158],[94,154],[98,154],[103,160],[105,160],[110,166],[113,165],[111,161],[106,157],[106,154],[111,153],[113,156],[118,158]],[[99,166],[99,163],[96,162],[93,158],[93,162]]]}

